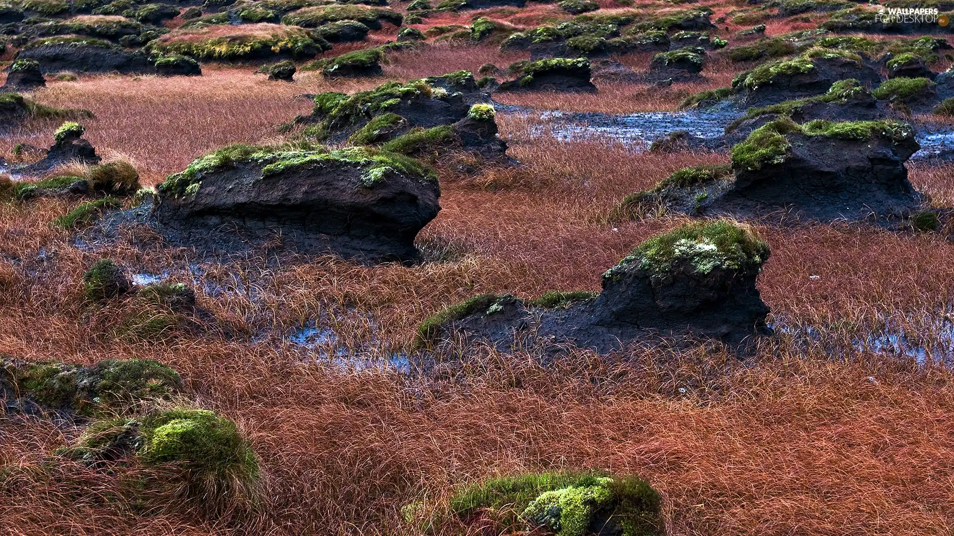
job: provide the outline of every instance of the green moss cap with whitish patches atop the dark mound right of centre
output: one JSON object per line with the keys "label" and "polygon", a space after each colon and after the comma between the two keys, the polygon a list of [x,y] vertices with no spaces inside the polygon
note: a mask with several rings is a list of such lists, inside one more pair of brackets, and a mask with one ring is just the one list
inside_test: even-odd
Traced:
{"label": "green moss cap with whitish patches atop the dark mound right of centre", "polygon": [[603,278],[617,278],[633,265],[653,275],[664,275],[682,263],[699,274],[716,269],[751,271],[758,270],[768,257],[768,244],[748,226],[725,220],[696,222],[639,244],[633,255],[622,259]]}

